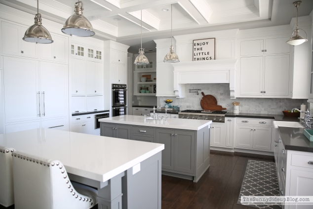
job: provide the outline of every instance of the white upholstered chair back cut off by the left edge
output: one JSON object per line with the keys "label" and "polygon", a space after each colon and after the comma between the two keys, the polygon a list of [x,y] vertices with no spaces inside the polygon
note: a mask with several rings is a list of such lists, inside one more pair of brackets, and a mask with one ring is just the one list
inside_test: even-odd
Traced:
{"label": "white upholstered chair back cut off by the left edge", "polygon": [[14,149],[0,146],[0,205],[14,204],[12,152]]}

